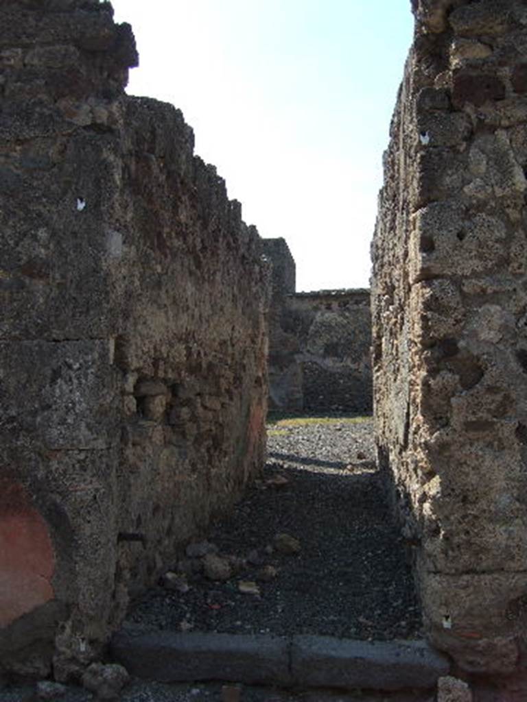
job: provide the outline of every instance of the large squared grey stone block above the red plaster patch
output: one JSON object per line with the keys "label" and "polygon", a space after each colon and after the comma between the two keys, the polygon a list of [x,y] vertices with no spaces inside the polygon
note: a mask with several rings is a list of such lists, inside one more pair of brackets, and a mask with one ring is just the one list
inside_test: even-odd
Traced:
{"label": "large squared grey stone block above the red plaster patch", "polygon": [[[113,340],[0,343],[4,442],[105,449],[119,437]],[[20,406],[20,397],[24,404]]]}

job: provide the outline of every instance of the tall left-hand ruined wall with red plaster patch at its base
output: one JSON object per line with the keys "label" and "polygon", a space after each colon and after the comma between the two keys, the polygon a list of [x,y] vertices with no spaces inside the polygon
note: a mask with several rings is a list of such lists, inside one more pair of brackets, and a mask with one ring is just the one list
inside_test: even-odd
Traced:
{"label": "tall left-hand ruined wall with red plaster patch at its base", "polygon": [[268,267],[97,0],[0,7],[0,668],[58,679],[263,461]]}

